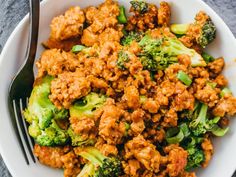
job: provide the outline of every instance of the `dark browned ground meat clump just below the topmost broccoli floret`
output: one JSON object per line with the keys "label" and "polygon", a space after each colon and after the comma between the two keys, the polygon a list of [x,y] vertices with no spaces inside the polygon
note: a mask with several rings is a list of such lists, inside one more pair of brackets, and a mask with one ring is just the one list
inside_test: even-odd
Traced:
{"label": "dark browned ground meat clump just below the topmost broccoli floret", "polygon": [[157,26],[158,8],[156,5],[149,4],[148,11],[144,14],[135,11],[133,7],[130,8],[130,12],[134,13],[134,15],[128,19],[127,30],[131,31],[137,28],[140,31],[144,31]]}

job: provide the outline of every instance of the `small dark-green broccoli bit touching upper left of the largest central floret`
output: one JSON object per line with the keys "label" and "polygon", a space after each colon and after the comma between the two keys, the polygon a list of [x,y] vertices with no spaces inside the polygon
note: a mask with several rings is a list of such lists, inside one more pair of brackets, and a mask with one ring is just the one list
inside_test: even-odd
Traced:
{"label": "small dark-green broccoli bit touching upper left of the largest central floret", "polygon": [[135,32],[131,31],[121,39],[121,45],[127,46],[130,45],[132,41],[139,42],[142,38],[143,33],[142,32]]}

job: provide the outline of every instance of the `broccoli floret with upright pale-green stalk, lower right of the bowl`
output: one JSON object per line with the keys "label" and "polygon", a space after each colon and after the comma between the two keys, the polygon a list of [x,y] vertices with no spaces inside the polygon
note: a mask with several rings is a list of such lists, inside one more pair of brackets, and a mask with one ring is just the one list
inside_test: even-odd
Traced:
{"label": "broccoli floret with upright pale-green stalk, lower right of the bowl", "polygon": [[207,115],[208,106],[201,104],[200,109],[197,109],[198,116],[193,118],[190,122],[189,127],[195,136],[203,135],[206,132],[211,132],[216,136],[224,136],[228,131],[228,128],[222,129],[217,123],[220,117],[215,117],[214,119],[209,119]]}

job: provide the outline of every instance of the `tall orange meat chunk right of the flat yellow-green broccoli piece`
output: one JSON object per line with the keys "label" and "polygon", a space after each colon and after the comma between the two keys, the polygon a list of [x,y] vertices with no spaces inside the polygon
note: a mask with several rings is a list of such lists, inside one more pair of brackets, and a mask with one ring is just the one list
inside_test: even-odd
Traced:
{"label": "tall orange meat chunk right of the flat yellow-green broccoli piece", "polygon": [[125,135],[125,124],[119,122],[123,111],[113,104],[104,106],[103,110],[99,124],[99,135],[108,144],[120,144]]}

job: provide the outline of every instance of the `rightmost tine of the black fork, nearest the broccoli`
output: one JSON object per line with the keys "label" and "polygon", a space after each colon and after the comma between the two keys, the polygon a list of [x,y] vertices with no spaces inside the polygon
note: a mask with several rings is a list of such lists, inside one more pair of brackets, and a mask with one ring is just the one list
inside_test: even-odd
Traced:
{"label": "rightmost tine of the black fork, nearest the broccoli", "polygon": [[[23,103],[25,103],[25,104],[23,104]],[[30,138],[30,136],[28,134],[28,129],[27,129],[27,126],[26,126],[24,115],[23,115],[23,111],[24,111],[24,108],[26,107],[26,105],[27,105],[27,98],[26,98],[25,102],[23,102],[22,98],[21,98],[20,99],[20,111],[21,111],[21,121],[22,121],[22,124],[23,124],[24,132],[25,132],[24,139],[26,141],[26,145],[27,145],[28,151],[30,153],[30,156],[31,156],[33,162],[36,163],[35,156],[34,156],[34,153],[33,153],[32,139]]]}

